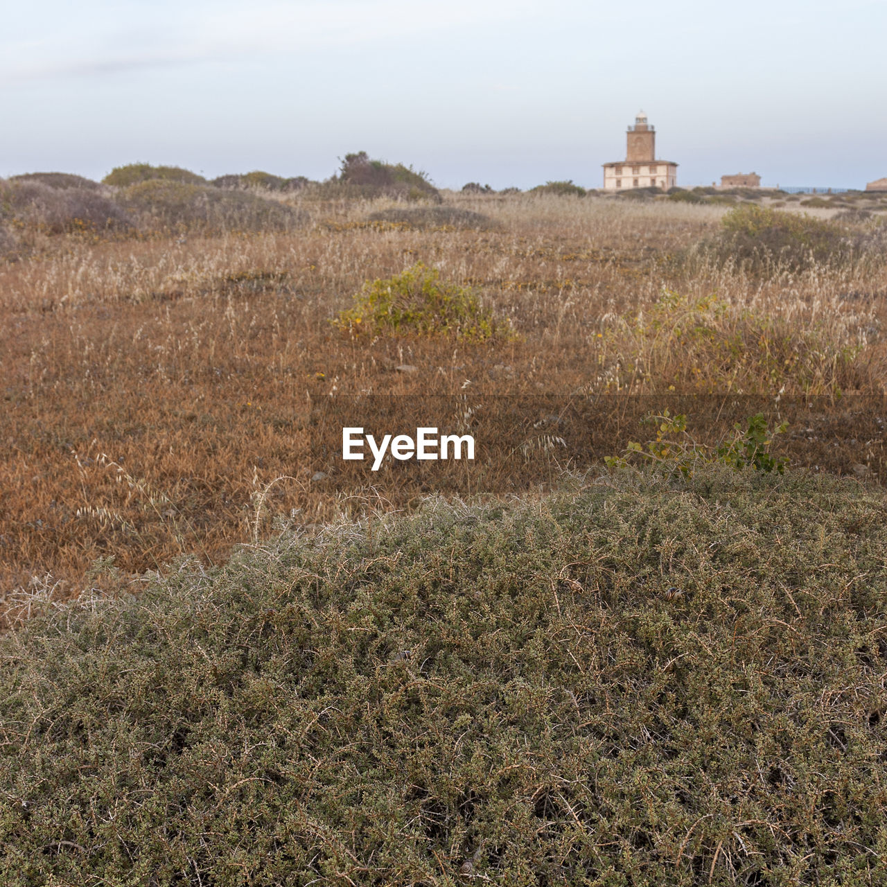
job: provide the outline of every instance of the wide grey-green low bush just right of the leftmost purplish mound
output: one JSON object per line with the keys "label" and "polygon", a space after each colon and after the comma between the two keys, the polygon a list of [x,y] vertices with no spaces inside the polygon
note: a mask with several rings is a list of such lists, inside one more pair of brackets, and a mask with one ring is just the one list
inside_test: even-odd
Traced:
{"label": "wide grey-green low bush just right of the leftmost purplish mound", "polygon": [[130,185],[119,199],[143,230],[287,231],[307,219],[300,210],[249,192],[161,179]]}

